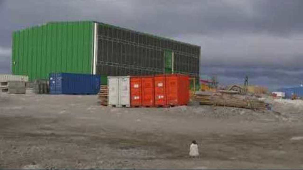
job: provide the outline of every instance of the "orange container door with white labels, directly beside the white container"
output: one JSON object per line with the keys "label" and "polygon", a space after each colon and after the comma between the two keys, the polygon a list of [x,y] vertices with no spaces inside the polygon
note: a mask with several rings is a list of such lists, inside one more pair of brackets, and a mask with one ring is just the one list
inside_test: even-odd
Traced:
{"label": "orange container door with white labels, directly beside the white container", "polygon": [[132,78],[131,83],[131,106],[142,105],[142,81],[141,78]]}

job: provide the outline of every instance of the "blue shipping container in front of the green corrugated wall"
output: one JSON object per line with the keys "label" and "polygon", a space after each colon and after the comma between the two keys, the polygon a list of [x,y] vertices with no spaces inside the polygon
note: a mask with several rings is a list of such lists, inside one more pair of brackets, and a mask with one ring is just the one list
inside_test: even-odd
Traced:
{"label": "blue shipping container in front of the green corrugated wall", "polygon": [[50,73],[50,94],[97,94],[100,76],[91,74]]}

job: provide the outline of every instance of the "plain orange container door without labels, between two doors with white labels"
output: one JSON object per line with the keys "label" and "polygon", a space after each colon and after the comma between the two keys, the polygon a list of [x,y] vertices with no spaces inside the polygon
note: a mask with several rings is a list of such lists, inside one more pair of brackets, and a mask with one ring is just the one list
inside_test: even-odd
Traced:
{"label": "plain orange container door without labels, between two doors with white labels", "polygon": [[142,78],[142,105],[153,106],[154,105],[154,78],[143,77]]}

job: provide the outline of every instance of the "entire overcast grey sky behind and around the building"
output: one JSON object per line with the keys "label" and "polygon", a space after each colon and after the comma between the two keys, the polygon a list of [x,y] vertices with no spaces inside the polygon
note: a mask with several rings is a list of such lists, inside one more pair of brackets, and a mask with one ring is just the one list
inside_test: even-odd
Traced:
{"label": "entire overcast grey sky behind and around the building", "polygon": [[95,20],[201,46],[201,73],[270,88],[303,82],[303,1],[0,0],[0,73],[10,72],[12,30]]}

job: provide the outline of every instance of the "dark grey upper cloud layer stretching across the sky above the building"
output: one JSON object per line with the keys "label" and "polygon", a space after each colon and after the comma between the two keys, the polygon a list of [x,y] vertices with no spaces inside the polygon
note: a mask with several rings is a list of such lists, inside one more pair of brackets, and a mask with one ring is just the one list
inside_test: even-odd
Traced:
{"label": "dark grey upper cloud layer stretching across the sky above the building", "polygon": [[[165,34],[303,31],[303,1],[9,1],[12,22],[95,19]],[[115,12],[113,12],[115,11]]]}

